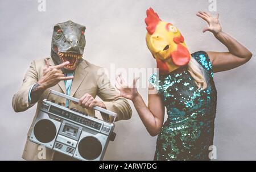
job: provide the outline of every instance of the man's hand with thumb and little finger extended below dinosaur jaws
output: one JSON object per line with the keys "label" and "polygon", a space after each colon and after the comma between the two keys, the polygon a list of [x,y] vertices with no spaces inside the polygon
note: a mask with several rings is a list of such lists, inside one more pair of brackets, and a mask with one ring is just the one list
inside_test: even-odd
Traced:
{"label": "man's hand with thumb and little finger extended below dinosaur jaws", "polygon": [[45,59],[44,61],[46,61],[46,68],[44,68],[43,70],[43,77],[40,78],[40,80],[38,81],[38,84],[40,85],[40,87],[42,87],[43,90],[55,86],[60,81],[73,79],[73,76],[65,77],[63,72],[60,70],[61,68],[64,68],[65,65],[68,65],[69,61],[66,61],[56,66],[49,66],[49,62],[47,59]]}

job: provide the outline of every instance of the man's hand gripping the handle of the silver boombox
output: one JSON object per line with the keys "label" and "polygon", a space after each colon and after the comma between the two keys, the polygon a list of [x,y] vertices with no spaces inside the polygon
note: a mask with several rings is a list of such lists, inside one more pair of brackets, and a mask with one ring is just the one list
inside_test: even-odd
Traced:
{"label": "man's hand gripping the handle of the silver boombox", "polygon": [[95,106],[100,106],[106,108],[103,102],[99,102],[92,97],[92,95],[86,93],[79,99],[79,105],[83,108],[93,108]]}

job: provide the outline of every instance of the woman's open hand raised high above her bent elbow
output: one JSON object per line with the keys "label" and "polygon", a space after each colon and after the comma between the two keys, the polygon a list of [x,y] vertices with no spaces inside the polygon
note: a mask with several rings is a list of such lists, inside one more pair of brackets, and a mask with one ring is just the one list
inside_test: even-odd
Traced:
{"label": "woman's open hand raised high above her bent elbow", "polygon": [[209,32],[212,32],[214,35],[217,35],[219,32],[221,32],[222,28],[218,20],[218,16],[219,16],[218,14],[215,18],[209,13],[204,11],[199,11],[197,12],[196,15],[204,19],[209,25],[209,27],[204,28],[203,32],[209,31]]}

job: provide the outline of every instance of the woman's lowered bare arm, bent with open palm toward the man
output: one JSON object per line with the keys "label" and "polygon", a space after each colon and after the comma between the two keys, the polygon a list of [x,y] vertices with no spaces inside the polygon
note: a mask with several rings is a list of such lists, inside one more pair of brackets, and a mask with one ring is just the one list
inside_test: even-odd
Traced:
{"label": "woman's lowered bare arm, bent with open palm toward the man", "polygon": [[135,78],[132,86],[127,86],[124,79],[119,75],[116,79],[115,86],[120,91],[120,94],[116,97],[124,97],[133,101],[139,117],[145,125],[148,133],[151,136],[156,136],[160,132],[163,126],[164,120],[164,106],[160,95],[156,94],[157,91],[154,88],[148,90],[148,107],[144,103],[143,98],[138,93],[136,88],[136,82],[138,78]]}

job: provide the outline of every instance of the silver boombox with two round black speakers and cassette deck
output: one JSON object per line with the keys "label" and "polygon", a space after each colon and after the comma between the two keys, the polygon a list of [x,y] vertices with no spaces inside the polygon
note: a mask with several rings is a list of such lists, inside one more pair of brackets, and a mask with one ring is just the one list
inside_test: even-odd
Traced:
{"label": "silver boombox with two round black speakers and cassette deck", "polygon": [[[79,99],[57,91],[50,90],[49,94],[79,102]],[[97,106],[94,110],[113,116],[113,122],[108,123],[44,99],[30,140],[77,160],[102,160],[109,140],[115,139],[113,129],[117,114]]]}

